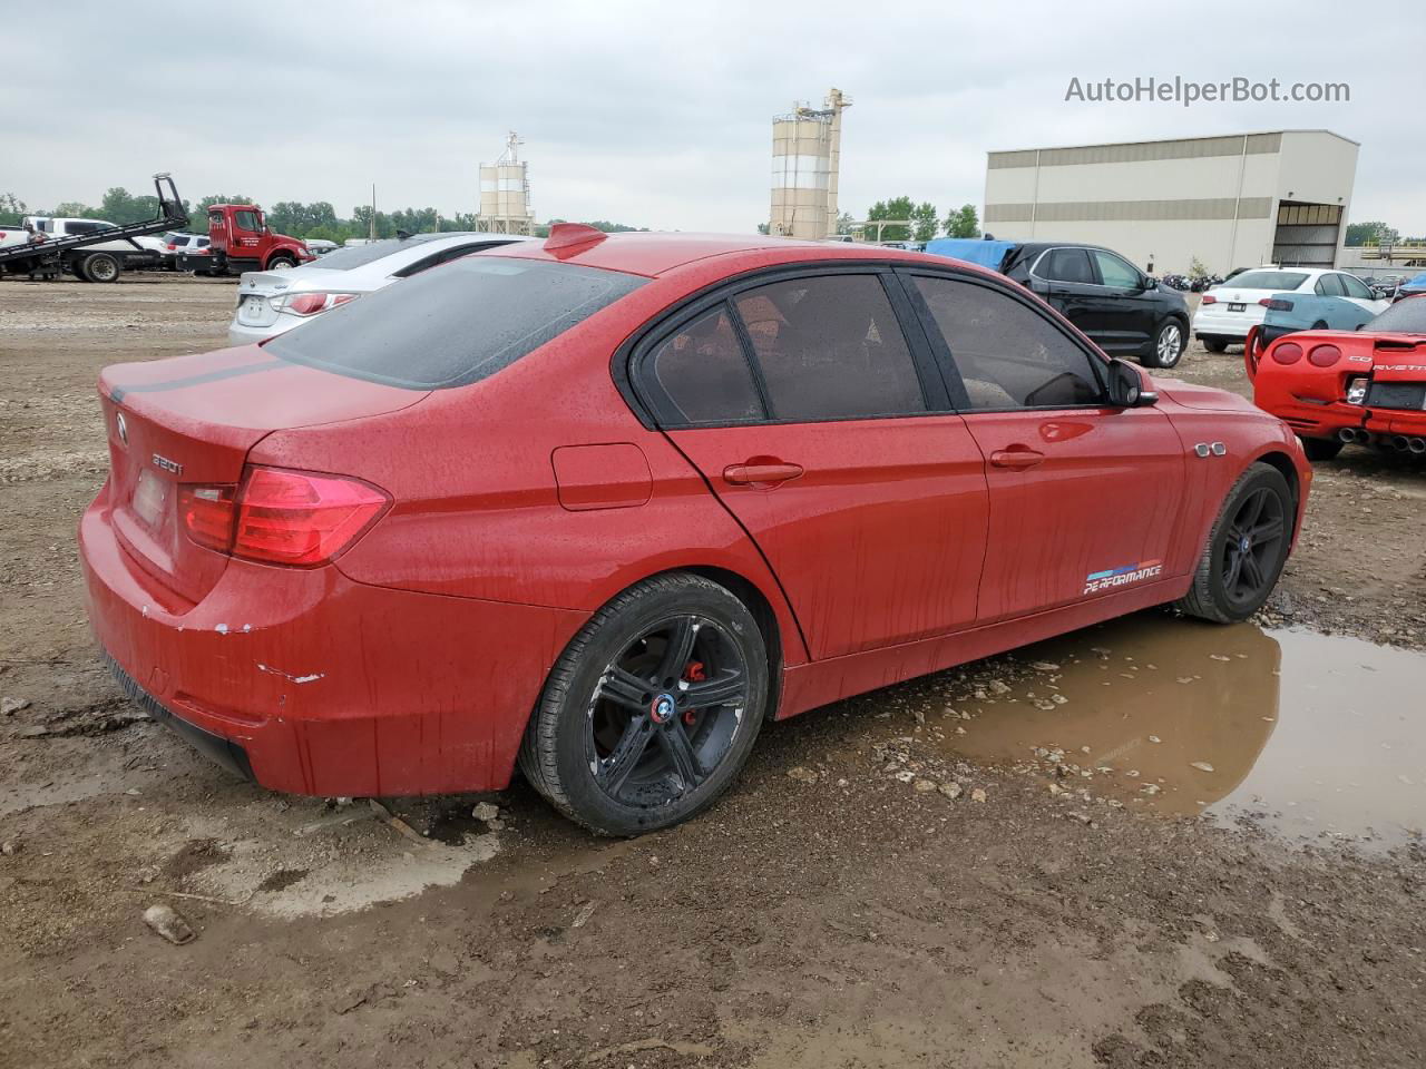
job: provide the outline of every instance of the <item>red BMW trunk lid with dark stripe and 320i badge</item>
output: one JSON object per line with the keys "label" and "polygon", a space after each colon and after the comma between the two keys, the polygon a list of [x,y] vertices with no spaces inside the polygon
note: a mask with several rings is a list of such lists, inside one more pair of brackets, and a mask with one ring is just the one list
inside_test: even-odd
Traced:
{"label": "red BMW trunk lid with dark stripe and 320i badge", "polygon": [[98,392],[114,534],[187,603],[217,584],[230,559],[188,537],[183,486],[238,483],[248,450],[272,430],[364,419],[428,396],[279,361],[257,345],[117,363],[101,372]]}

